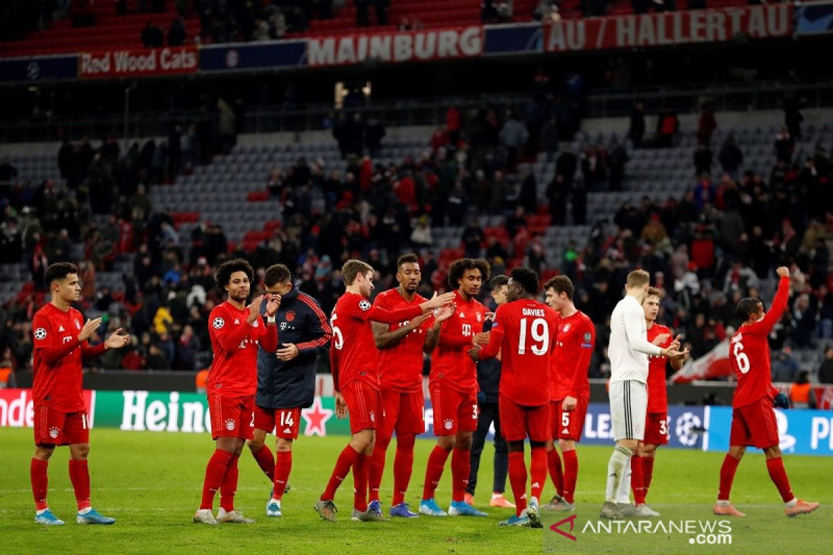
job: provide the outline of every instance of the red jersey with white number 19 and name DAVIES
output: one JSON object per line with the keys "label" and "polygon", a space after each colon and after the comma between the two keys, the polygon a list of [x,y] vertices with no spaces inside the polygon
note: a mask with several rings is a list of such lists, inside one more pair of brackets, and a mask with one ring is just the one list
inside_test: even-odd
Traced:
{"label": "red jersey with white number 19 and name DAVIES", "polygon": [[513,300],[497,307],[489,343],[481,359],[501,353],[498,394],[525,407],[549,403],[552,342],[558,317],[555,310],[535,299]]}

